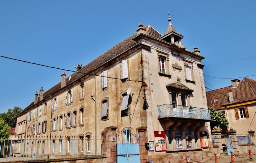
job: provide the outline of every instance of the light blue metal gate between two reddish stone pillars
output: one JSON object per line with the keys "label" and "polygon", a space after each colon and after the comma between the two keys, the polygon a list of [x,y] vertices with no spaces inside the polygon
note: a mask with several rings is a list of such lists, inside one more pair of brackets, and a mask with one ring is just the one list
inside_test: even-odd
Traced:
{"label": "light blue metal gate between two reddish stone pillars", "polygon": [[135,136],[125,128],[116,136],[117,163],[140,163],[139,135]]}

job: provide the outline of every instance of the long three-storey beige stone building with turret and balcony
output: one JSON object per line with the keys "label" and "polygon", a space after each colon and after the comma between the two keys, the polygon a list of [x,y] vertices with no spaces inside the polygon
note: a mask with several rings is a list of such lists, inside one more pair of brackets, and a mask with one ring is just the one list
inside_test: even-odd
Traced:
{"label": "long three-storey beige stone building with turret and balcony", "polygon": [[[157,141],[155,150],[161,151],[147,155],[209,151],[204,57],[197,47],[190,51],[181,45],[183,36],[171,22],[163,35],[150,25],[140,24],[136,31],[78,72],[67,78],[63,73],[61,82],[46,92],[42,88],[39,97],[36,93],[18,115],[18,135],[75,136],[82,142],[110,126],[117,132],[127,127],[136,135],[138,128],[146,128],[148,141]],[[148,85],[145,93],[142,81]],[[18,131],[24,124],[25,130]]]}

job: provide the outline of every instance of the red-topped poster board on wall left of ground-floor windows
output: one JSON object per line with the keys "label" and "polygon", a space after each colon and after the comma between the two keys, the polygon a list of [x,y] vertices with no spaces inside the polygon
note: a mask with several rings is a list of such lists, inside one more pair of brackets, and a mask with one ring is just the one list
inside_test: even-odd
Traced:
{"label": "red-topped poster board on wall left of ground-floor windows", "polygon": [[166,134],[164,131],[154,131],[156,151],[166,151]]}

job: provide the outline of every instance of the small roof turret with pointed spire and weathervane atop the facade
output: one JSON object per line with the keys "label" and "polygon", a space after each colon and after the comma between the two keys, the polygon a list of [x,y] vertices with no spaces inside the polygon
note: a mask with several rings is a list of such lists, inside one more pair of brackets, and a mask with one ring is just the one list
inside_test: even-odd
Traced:
{"label": "small roof turret with pointed spire and weathervane atop the facade", "polygon": [[169,21],[169,25],[166,29],[166,32],[164,32],[160,40],[165,40],[171,43],[175,43],[178,41],[178,44],[181,45],[181,39],[183,39],[183,36],[180,33],[178,33],[177,30],[171,24],[170,13],[169,13],[168,21]]}

